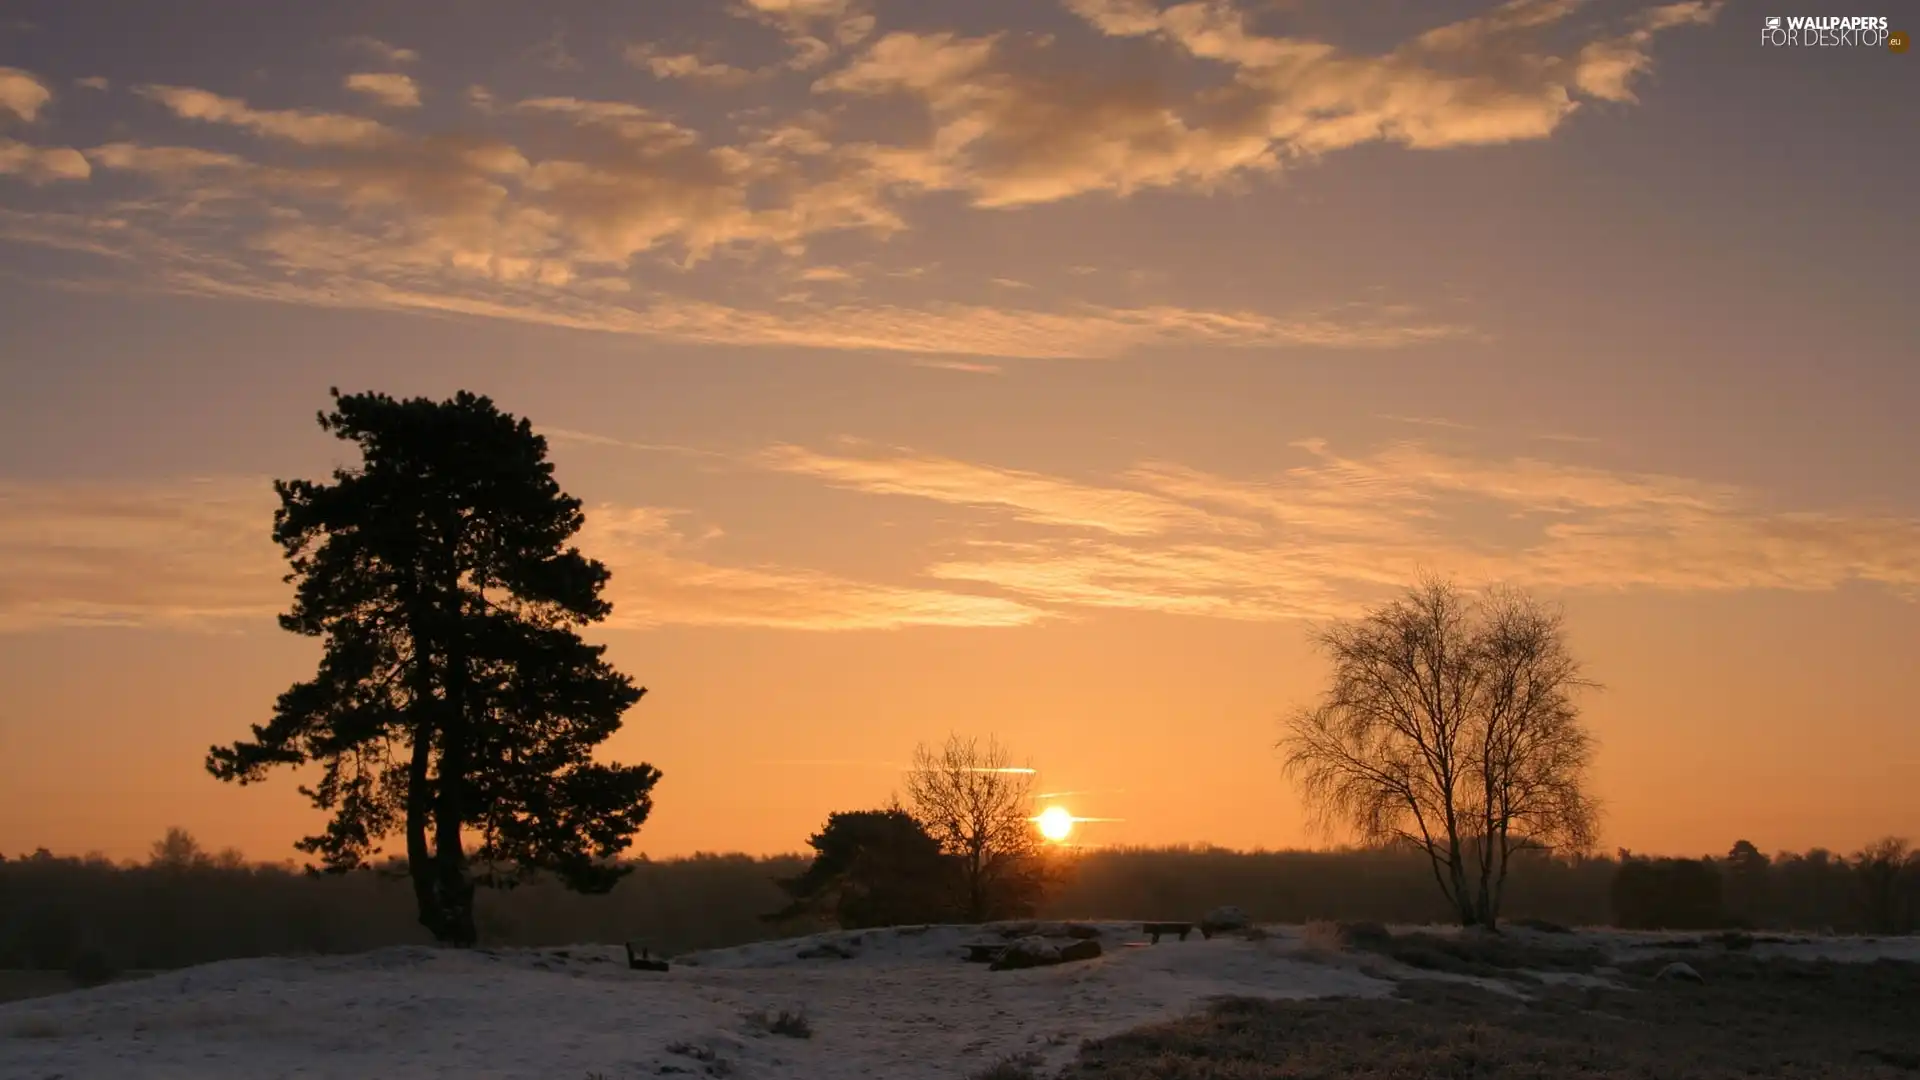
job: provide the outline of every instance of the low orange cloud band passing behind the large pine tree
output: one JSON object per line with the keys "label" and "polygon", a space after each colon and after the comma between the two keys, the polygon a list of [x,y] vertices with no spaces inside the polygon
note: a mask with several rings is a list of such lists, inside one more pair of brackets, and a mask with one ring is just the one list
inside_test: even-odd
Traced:
{"label": "low orange cloud band passing behind the large pine tree", "polygon": [[[267,626],[290,601],[265,479],[0,482],[0,630]],[[612,628],[1016,626],[1016,600],[699,557],[680,511],[595,505],[580,546],[614,571]]]}

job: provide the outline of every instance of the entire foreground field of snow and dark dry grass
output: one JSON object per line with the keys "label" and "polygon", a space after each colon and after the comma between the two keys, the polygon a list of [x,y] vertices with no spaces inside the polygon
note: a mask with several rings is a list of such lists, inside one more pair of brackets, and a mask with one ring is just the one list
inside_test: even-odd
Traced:
{"label": "entire foreground field of snow and dark dry grass", "polygon": [[[0,1005],[6,1078],[1916,1076],[1920,938],[1269,926],[1031,970],[1064,924],[223,961]],[[1684,959],[1705,982],[1653,978]]]}

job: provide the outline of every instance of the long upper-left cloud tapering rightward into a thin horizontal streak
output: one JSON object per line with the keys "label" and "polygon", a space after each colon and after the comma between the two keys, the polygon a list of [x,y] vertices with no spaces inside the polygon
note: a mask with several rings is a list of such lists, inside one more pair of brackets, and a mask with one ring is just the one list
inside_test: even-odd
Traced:
{"label": "long upper-left cloud tapering rightward into a thin horizontal streak", "polygon": [[[1137,348],[1400,348],[1457,338],[1461,325],[1430,323],[1400,309],[1342,307],[1294,315],[1185,307],[1068,309],[966,304],[787,304],[749,307],[630,290],[626,279],[586,277],[553,252],[553,219],[520,223],[503,213],[505,194],[465,163],[486,146],[438,146],[413,169],[334,165],[319,173],[275,173],[230,156],[192,148],[108,144],[102,167],[146,171],[223,190],[211,177],[234,169],[244,184],[349,198],[363,213],[407,208],[409,231],[363,238],[294,217],[232,254],[171,238],[173,219],[150,208],[117,215],[0,215],[0,236],[102,254],[132,277],[127,288],[340,309],[378,309],[511,319],[578,331],[722,346],[785,346],[952,357],[1100,359]],[[501,152],[493,167],[507,169]],[[140,219],[146,213],[146,219]],[[148,221],[142,225],[142,221]],[[209,221],[198,221],[202,229]],[[196,238],[198,240],[198,238]]]}

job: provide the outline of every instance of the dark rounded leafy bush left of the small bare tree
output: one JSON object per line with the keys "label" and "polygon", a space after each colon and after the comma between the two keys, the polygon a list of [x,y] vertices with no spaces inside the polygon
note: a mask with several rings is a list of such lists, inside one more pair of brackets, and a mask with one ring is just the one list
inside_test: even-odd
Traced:
{"label": "dark rounded leafy bush left of the small bare tree", "polygon": [[939,922],[948,917],[952,863],[900,807],[828,815],[808,842],[814,861],[780,888],[793,897],[770,920],[829,917],[854,930]]}

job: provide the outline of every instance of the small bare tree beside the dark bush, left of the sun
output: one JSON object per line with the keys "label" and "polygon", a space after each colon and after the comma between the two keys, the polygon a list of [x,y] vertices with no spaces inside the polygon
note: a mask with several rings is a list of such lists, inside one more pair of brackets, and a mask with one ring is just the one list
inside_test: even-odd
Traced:
{"label": "small bare tree beside the dark bush, left of the sun", "polygon": [[914,749],[906,774],[914,817],[954,859],[966,919],[1027,915],[1043,888],[1041,832],[1033,822],[1033,769],[995,740],[948,736]]}

